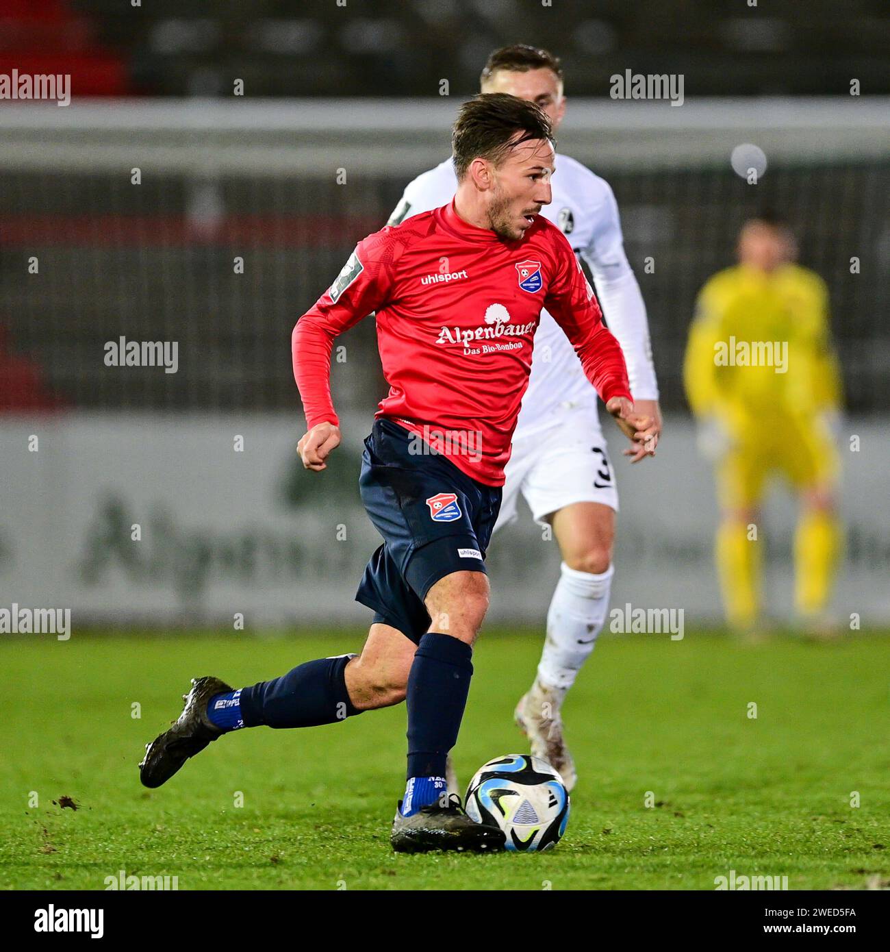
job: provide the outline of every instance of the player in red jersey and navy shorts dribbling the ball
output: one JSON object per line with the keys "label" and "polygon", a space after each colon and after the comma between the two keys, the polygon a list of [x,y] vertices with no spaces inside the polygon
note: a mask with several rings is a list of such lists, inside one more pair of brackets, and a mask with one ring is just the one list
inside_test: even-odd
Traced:
{"label": "player in red jersey and navy shorts dribbling the ball", "polygon": [[359,242],[293,332],[307,416],[298,448],[304,466],[322,471],[340,444],[329,386],[334,338],[376,312],[389,392],[359,480],[384,539],[356,595],[374,611],[365,647],[238,690],[196,680],[179,721],[148,744],[140,765],[148,786],[228,730],[329,724],[405,701],[407,785],[393,848],[504,844],[500,829],[473,823],[448,795],[445,761],[488,606],[485,548],[542,307],[628,438],[645,446],[654,429],[634,413],[621,348],[574,252],[538,214],[550,202],[554,162],[544,112],[504,93],[477,96],[461,109],[452,146],[452,202]]}

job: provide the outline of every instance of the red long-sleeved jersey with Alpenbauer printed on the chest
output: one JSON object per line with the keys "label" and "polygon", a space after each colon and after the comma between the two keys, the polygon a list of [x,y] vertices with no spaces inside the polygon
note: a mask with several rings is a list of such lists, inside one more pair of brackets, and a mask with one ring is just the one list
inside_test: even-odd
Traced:
{"label": "red long-sleeved jersey with Alpenbauer printed on the chest", "polygon": [[630,398],[621,347],[562,231],[542,216],[505,241],[465,222],[452,200],[368,235],[293,329],[307,426],[339,425],[329,381],[334,338],[376,311],[389,385],[376,415],[480,483],[503,486],[542,307],[603,401]]}

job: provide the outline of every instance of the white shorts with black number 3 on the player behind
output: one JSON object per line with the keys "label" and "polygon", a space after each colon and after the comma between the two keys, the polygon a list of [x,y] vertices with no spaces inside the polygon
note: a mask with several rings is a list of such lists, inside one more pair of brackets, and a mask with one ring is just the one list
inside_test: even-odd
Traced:
{"label": "white shorts with black number 3 on the player behind", "polygon": [[495,532],[516,519],[520,493],[542,524],[545,516],[573,503],[603,503],[618,512],[615,473],[596,407],[566,409],[553,426],[514,439],[504,475]]}

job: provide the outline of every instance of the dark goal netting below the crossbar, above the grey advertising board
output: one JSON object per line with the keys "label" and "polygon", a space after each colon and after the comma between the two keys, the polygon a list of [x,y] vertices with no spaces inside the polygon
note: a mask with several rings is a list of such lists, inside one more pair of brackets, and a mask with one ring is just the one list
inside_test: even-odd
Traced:
{"label": "dark goal netting below the crossbar, above the grey advertising board", "polygon": [[[582,161],[589,157],[576,156]],[[420,169],[418,169],[420,170]],[[697,291],[732,263],[746,215],[790,219],[801,263],[831,289],[850,409],[890,408],[886,300],[890,169],[775,162],[757,188],[728,169],[598,169],[618,197],[652,327],[663,404],[683,407],[682,351]],[[410,175],[353,174],[347,187],[268,174],[195,178],[0,175],[0,327],[64,403],[89,408],[292,409],[290,331],[356,241],[381,227]],[[851,273],[850,259],[860,259]],[[29,273],[36,258],[38,272]],[[236,273],[243,259],[243,273]],[[646,259],[651,259],[647,273]],[[175,374],[104,364],[105,344],[179,342]],[[338,406],[382,395],[373,321],[334,364]]]}

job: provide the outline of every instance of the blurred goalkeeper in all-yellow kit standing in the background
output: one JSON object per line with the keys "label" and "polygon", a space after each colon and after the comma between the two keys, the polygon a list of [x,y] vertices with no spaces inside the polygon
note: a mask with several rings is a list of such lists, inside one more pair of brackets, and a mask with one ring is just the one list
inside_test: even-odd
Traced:
{"label": "blurred goalkeeper in all-yellow kit standing in the background", "polygon": [[802,621],[821,622],[841,551],[833,438],[841,376],[827,288],[794,263],[794,237],[771,214],[745,223],[738,253],[738,266],[702,288],[683,367],[700,446],[716,463],[717,566],[726,619],[742,629],[757,622],[758,508],[767,482],[780,474],[801,506],[795,607]]}

